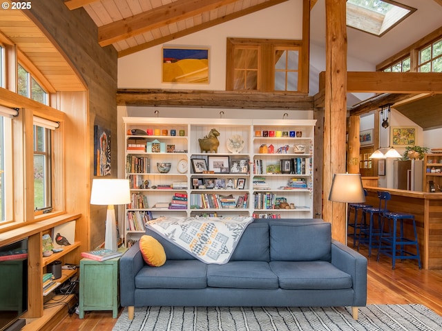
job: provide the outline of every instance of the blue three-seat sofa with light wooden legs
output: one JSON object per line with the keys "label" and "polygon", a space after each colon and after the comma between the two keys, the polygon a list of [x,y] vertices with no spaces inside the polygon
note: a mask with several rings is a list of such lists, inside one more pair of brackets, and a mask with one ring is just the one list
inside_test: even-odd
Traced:
{"label": "blue three-seat sofa with light wooden legs", "polygon": [[166,263],[148,266],[138,245],[121,257],[120,299],[144,306],[352,306],[367,299],[367,259],[332,239],[320,219],[256,219],[228,263],[206,264],[151,230]]}

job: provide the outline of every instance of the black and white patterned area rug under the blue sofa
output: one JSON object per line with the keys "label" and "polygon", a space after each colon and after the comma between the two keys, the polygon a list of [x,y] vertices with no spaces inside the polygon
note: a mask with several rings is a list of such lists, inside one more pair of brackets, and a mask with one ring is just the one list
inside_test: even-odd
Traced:
{"label": "black and white patterned area rug under the blue sofa", "polygon": [[115,331],[441,331],[442,317],[424,305],[367,305],[358,320],[349,307],[144,307],[129,321],[124,309]]}

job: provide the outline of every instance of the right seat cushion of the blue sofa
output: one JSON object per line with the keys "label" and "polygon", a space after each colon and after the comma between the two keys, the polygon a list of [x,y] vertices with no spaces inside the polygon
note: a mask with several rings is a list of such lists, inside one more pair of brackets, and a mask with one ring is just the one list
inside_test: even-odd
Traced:
{"label": "right seat cushion of the blue sofa", "polygon": [[337,290],[352,287],[352,277],[326,261],[271,261],[279,286],[287,290]]}

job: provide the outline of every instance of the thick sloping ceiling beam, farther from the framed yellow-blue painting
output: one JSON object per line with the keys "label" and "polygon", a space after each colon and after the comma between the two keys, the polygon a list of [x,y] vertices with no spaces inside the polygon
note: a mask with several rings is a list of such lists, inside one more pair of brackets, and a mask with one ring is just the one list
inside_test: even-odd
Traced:
{"label": "thick sloping ceiling beam, farther from the framed yellow-blue painting", "polygon": [[137,34],[147,32],[203,12],[215,10],[236,0],[178,0],[153,8],[148,12],[127,17],[98,28],[98,43],[108,46]]}

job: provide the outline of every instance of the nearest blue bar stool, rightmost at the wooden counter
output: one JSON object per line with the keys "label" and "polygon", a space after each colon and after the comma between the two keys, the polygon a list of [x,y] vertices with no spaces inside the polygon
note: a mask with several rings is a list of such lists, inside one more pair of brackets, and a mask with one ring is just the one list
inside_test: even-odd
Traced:
{"label": "nearest blue bar stool, rightmost at the wooden counter", "polygon": [[[410,219],[413,224],[414,239],[404,237],[403,222],[405,219]],[[387,257],[391,257],[392,269],[394,269],[394,263],[396,262],[396,259],[416,259],[419,265],[419,269],[421,269],[421,255],[419,254],[419,244],[417,242],[416,221],[414,220],[414,215],[406,214],[405,212],[385,212],[383,213],[383,218],[381,221],[381,229],[384,226],[385,220],[387,220],[388,227],[392,228],[392,231],[381,232],[377,261],[379,261],[379,256],[381,254],[384,254]],[[398,223],[399,227],[397,225]],[[392,225],[392,227],[390,227],[390,225]],[[416,246],[416,254],[405,249],[406,245],[407,247],[409,245]],[[399,247],[396,248],[396,246]]]}

